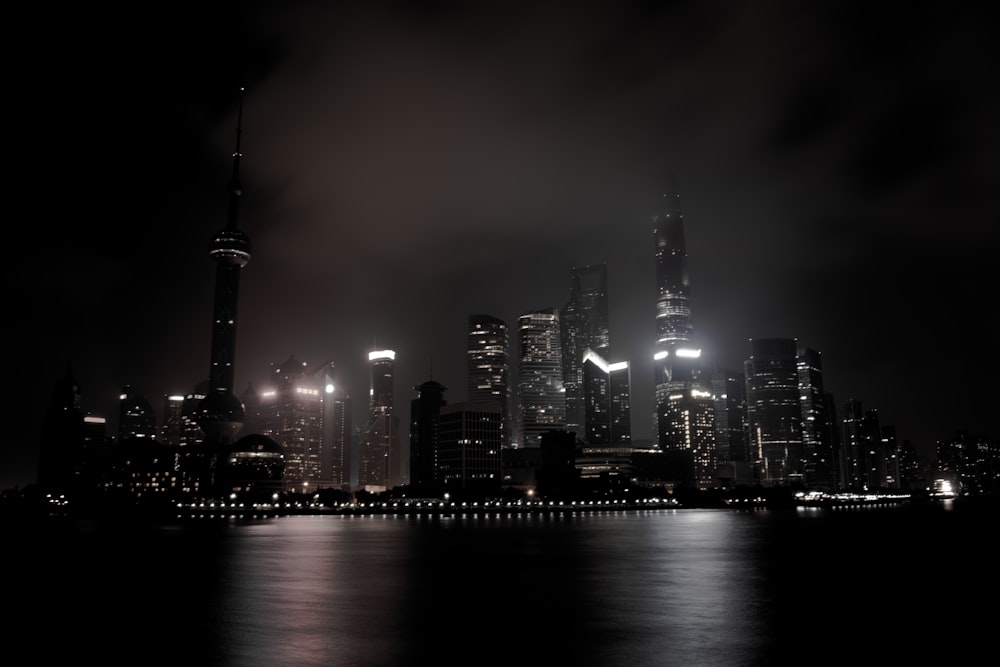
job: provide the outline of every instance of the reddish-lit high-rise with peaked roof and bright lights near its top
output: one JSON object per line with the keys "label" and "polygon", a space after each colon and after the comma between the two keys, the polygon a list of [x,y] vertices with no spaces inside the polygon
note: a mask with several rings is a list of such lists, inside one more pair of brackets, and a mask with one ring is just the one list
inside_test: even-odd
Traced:
{"label": "reddish-lit high-rise with peaked roof and bright lights near its top", "polygon": [[284,488],[316,491],[327,484],[322,473],[323,389],[295,355],[272,365],[270,383],[260,395],[260,423],[263,434],[284,451]]}

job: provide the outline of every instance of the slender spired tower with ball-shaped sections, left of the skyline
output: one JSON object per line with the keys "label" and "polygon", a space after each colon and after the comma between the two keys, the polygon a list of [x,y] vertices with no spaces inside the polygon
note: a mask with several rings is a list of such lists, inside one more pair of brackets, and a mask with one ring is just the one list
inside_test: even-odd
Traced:
{"label": "slender spired tower with ball-shaped sections, left of the skyline", "polygon": [[236,151],[229,183],[229,215],[225,228],[212,238],[209,256],[215,261],[215,307],[212,311],[212,357],[208,393],[198,406],[198,425],[205,433],[211,456],[215,449],[232,443],[243,426],[243,404],[233,392],[236,359],[236,311],[240,269],[250,261],[250,239],[237,226],[240,196],[240,135],[243,132],[243,89],[236,123]]}

